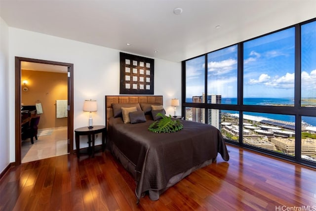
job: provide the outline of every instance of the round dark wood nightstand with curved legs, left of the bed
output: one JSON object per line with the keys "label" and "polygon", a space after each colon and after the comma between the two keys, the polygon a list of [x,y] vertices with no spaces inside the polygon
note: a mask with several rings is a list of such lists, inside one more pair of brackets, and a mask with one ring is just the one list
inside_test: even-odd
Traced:
{"label": "round dark wood nightstand with curved legs, left of the bed", "polygon": [[92,135],[92,158],[94,158],[95,134],[102,132],[102,151],[104,151],[106,131],[107,130],[106,130],[105,126],[93,126],[92,128],[80,127],[80,128],[75,129],[77,157],[79,158],[79,156],[80,156],[80,145],[79,145],[79,136],[80,135],[87,135],[88,136],[89,149],[90,149],[91,135]]}

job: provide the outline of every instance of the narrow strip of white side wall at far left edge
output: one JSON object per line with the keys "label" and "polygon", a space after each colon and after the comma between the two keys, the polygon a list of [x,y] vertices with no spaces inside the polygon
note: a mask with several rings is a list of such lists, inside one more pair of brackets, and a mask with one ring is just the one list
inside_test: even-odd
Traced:
{"label": "narrow strip of white side wall at far left edge", "polygon": [[[9,55],[9,29],[0,18],[0,172],[9,165],[9,104],[8,104],[8,55]],[[14,80],[13,80],[14,82]],[[14,98],[13,98],[14,100]],[[13,130],[14,131],[14,130]],[[14,143],[14,142],[13,142]]]}

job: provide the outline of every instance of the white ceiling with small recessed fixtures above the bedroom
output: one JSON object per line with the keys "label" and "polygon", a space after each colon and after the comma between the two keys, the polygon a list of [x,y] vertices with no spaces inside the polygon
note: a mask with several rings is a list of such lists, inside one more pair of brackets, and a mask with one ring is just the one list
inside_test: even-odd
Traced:
{"label": "white ceiling with small recessed fixtures above the bedroom", "polygon": [[9,27],[179,62],[315,18],[316,0],[0,0],[0,17]]}

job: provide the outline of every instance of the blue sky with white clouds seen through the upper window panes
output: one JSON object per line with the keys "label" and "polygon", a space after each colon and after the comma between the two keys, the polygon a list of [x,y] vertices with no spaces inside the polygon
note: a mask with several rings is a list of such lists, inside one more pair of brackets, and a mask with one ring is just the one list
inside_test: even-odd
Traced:
{"label": "blue sky with white clouds seen through the upper window panes", "polygon": [[[295,30],[244,42],[244,97],[294,97]],[[187,61],[187,97],[204,92],[204,56]],[[302,97],[316,98],[316,22],[302,26]],[[208,54],[208,93],[237,97],[237,45]]]}

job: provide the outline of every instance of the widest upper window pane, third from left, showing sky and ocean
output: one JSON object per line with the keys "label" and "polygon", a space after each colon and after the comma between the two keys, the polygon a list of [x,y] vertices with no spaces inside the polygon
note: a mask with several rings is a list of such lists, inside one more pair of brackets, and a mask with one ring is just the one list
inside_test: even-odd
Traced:
{"label": "widest upper window pane, third from left, showing sky and ocean", "polygon": [[294,106],[295,28],[243,43],[243,104]]}

